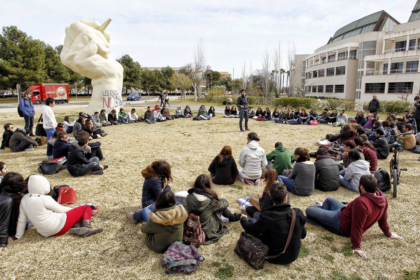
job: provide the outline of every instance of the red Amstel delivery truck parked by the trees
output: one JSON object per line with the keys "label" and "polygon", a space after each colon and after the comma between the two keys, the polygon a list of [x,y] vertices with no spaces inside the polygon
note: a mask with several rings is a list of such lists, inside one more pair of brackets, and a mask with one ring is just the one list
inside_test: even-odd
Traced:
{"label": "red Amstel delivery truck parked by the trees", "polygon": [[70,92],[68,84],[33,84],[29,89],[32,93],[32,102],[34,104],[45,103],[45,99],[52,97],[58,104],[68,102]]}

